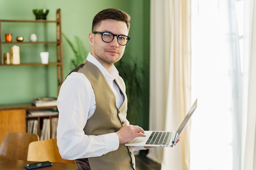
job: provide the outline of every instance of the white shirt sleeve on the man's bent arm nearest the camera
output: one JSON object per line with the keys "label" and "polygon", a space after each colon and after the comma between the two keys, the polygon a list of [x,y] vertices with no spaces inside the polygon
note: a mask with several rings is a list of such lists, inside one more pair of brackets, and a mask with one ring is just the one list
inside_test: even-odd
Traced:
{"label": "white shirt sleeve on the man's bent arm nearest the camera", "polygon": [[63,159],[99,157],[119,148],[116,133],[85,135],[83,131],[96,107],[92,85],[84,74],[73,72],[67,76],[57,107],[57,145]]}

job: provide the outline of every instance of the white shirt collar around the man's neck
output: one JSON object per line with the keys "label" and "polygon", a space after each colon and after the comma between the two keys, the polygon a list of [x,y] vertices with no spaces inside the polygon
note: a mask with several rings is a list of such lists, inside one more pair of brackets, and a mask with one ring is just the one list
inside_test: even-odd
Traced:
{"label": "white shirt collar around the man's neck", "polygon": [[93,63],[94,65],[96,65],[97,68],[99,68],[99,70],[101,71],[101,73],[103,74],[103,76],[105,76],[106,79],[113,81],[115,80],[115,78],[117,78],[119,76],[119,72],[117,70],[117,68],[115,67],[115,65],[112,66],[110,73],[103,67],[103,65],[101,65],[101,63],[95,59],[95,57],[92,56],[92,54],[89,52],[87,58],[86,58],[89,62]]}

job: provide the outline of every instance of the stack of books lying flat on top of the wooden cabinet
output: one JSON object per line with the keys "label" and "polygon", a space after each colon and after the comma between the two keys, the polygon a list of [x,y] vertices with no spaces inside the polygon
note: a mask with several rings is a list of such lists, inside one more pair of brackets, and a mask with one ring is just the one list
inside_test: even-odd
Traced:
{"label": "stack of books lying flat on top of the wooden cabinet", "polygon": [[32,98],[32,104],[35,105],[36,107],[56,106],[57,105],[57,97]]}

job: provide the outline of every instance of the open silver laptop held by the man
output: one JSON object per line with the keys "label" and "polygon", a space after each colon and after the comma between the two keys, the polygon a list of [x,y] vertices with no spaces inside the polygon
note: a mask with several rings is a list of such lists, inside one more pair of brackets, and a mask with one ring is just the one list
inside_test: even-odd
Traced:
{"label": "open silver laptop held by the man", "polygon": [[180,124],[180,127],[176,132],[168,131],[144,131],[146,137],[136,137],[130,142],[124,144],[125,146],[152,146],[152,147],[173,147],[180,137],[182,131],[185,129],[186,124],[188,124],[191,116],[193,115],[195,109],[197,108],[197,99],[194,104],[189,109],[186,117]]}

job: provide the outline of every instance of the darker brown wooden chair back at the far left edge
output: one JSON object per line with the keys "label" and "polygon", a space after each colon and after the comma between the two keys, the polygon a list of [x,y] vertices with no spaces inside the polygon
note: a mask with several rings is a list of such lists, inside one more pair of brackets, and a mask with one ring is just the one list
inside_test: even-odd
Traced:
{"label": "darker brown wooden chair back at the far left edge", "polygon": [[27,160],[30,142],[38,141],[39,136],[32,133],[9,132],[0,148],[0,159]]}

